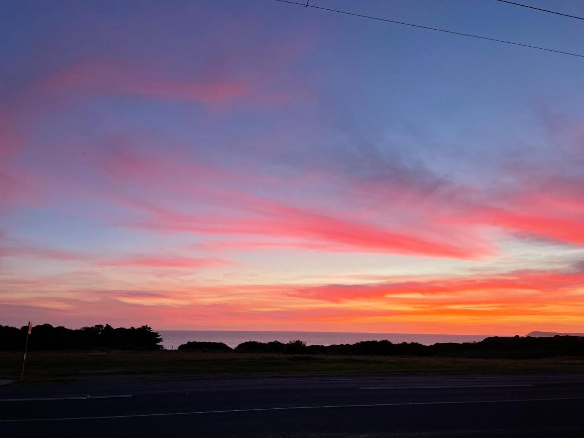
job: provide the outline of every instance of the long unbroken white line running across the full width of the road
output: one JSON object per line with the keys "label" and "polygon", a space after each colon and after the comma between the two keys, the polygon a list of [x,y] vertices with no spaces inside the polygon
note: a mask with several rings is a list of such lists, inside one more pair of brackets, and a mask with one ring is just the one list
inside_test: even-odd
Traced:
{"label": "long unbroken white line running across the full width of the road", "polygon": [[291,411],[299,409],[338,409],[338,408],[376,408],[381,406],[423,406],[423,405],[464,405],[483,403],[516,403],[533,401],[562,401],[584,400],[584,397],[563,398],[517,398],[509,400],[471,400],[471,401],[444,401],[444,402],[409,402],[409,403],[380,403],[369,405],[328,405],[328,406],[284,406],[281,408],[254,408],[254,409],[229,409],[225,411],[193,411],[193,412],[161,412],[161,413],[136,413],[130,415],[105,415],[95,417],[65,417],[65,418],[23,418],[14,420],[0,420],[0,423],[16,423],[26,421],[69,421],[69,420],[105,420],[116,418],[143,418],[176,415],[201,415],[204,413],[235,413],[235,412],[265,412],[265,411]]}

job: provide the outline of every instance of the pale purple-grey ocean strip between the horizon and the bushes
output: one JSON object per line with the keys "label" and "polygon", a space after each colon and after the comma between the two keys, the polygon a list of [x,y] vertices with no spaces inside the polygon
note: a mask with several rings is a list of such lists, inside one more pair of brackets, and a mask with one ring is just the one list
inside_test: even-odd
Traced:
{"label": "pale purple-grey ocean strip between the horizon and the bushes", "polygon": [[193,331],[160,330],[162,345],[165,349],[176,349],[189,340],[223,342],[230,347],[237,347],[246,340],[270,342],[279,340],[303,340],[307,345],[352,344],[361,340],[383,340],[391,342],[418,342],[432,345],[436,342],[472,342],[487,338],[481,335],[427,335],[419,333],[341,333],[341,332],[239,332],[239,331]]}

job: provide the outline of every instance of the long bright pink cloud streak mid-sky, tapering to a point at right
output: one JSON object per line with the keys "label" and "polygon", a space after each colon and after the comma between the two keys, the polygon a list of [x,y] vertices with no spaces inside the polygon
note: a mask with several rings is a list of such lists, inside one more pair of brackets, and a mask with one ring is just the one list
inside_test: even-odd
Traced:
{"label": "long bright pink cloud streak mid-sky, tapering to a point at right", "polygon": [[[325,251],[392,252],[461,259],[476,259],[496,252],[495,246],[478,235],[463,241],[460,230],[453,227],[447,233],[436,232],[435,227],[426,230],[425,224],[422,228],[404,230],[399,225],[369,223],[356,217],[352,208],[321,213],[314,207],[268,199],[253,194],[255,187],[286,182],[187,163],[187,160],[179,164],[120,151],[111,155],[100,171],[126,189],[148,187],[151,196],[147,201],[141,201],[135,194],[123,200],[121,193],[116,194],[118,202],[149,216],[145,221],[129,224],[130,227],[293,239],[294,246]],[[166,200],[175,200],[187,208],[198,205],[205,212],[178,213],[163,206],[152,194],[164,194]],[[213,213],[217,210],[221,213]]]}

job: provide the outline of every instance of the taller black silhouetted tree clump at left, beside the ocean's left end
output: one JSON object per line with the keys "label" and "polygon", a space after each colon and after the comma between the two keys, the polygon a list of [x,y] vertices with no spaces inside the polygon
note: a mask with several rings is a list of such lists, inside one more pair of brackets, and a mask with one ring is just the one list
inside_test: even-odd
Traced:
{"label": "taller black silhouetted tree clump at left, beside the ocean's left end", "polygon": [[[22,350],[27,326],[21,328],[0,325],[0,350]],[[50,324],[36,325],[29,336],[29,351],[34,350],[161,350],[162,338],[147,325],[134,328],[113,328],[94,325],[68,329]]]}

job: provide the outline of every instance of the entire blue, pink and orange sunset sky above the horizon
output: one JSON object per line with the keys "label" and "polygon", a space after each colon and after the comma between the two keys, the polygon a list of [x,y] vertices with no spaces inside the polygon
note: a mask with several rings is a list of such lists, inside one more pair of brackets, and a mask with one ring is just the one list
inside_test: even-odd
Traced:
{"label": "entire blue, pink and orange sunset sky above the horizon", "polygon": [[[310,4],[584,54],[494,0]],[[584,58],[274,0],[2,9],[0,324],[584,332]]]}

